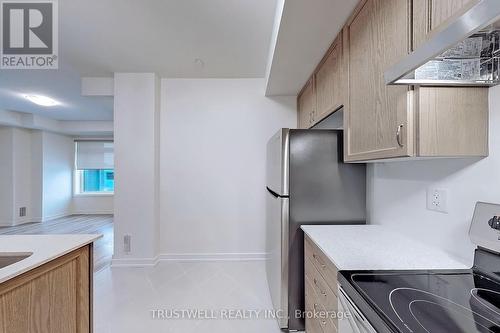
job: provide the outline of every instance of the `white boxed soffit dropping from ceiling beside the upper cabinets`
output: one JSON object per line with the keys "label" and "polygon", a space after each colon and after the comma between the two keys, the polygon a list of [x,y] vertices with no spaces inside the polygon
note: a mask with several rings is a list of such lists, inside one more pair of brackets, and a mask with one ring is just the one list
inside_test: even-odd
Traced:
{"label": "white boxed soffit dropping from ceiling beside the upper cabinets", "polygon": [[359,0],[285,0],[275,27],[266,95],[295,96]]}

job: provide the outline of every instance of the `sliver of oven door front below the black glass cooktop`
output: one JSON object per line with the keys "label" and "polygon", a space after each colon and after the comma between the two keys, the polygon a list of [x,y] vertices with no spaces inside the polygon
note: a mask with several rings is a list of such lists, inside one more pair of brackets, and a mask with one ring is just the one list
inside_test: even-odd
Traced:
{"label": "sliver of oven door front below the black glass cooktop", "polygon": [[344,314],[344,319],[339,320],[338,333],[377,333],[342,287],[338,290],[339,312]]}

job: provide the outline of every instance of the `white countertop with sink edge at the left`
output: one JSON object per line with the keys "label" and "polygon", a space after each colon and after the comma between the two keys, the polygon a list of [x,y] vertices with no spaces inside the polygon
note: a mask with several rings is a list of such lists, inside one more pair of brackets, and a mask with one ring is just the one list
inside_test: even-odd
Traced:
{"label": "white countertop with sink edge at the left", "polygon": [[102,235],[0,236],[0,255],[3,253],[33,253],[24,260],[0,268],[0,283],[90,244],[101,237]]}

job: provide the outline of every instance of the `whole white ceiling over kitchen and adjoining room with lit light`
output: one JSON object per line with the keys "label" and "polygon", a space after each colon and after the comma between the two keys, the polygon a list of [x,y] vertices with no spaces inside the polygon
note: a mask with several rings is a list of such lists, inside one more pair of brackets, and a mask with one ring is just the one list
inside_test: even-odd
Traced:
{"label": "whole white ceiling over kitchen and adjoining room with lit light", "polygon": [[[59,70],[0,71],[0,109],[57,120],[112,120],[111,97],[82,76],[264,77],[276,0],[59,0]],[[39,107],[24,94],[61,105]]]}

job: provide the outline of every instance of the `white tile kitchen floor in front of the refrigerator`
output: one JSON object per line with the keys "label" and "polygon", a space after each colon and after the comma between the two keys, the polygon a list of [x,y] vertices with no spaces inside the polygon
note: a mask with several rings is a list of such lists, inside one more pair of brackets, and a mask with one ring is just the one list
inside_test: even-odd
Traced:
{"label": "white tile kitchen floor in front of the refrigerator", "polygon": [[[218,318],[154,319],[157,309],[214,310]],[[226,310],[269,309],[265,266],[259,261],[106,268],[94,278],[95,333],[279,333],[276,321],[262,314],[221,318]]]}

